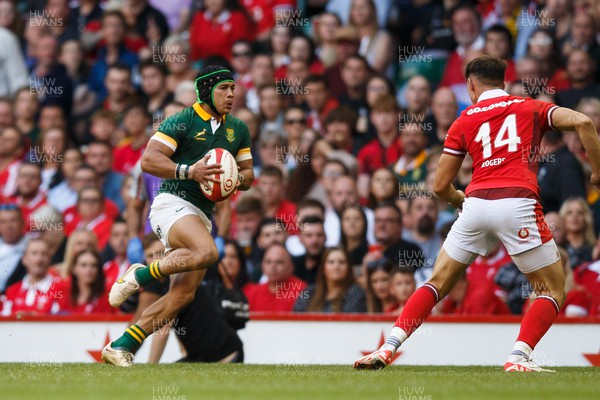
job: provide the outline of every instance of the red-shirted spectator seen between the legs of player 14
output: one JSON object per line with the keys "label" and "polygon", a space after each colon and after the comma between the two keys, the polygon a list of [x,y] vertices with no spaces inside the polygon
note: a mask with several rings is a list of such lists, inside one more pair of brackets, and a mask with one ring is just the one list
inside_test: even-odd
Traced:
{"label": "red-shirted spectator seen between the legs of player 14", "polygon": [[463,274],[448,296],[442,301],[442,314],[458,315],[505,315],[510,314],[508,306],[487,287],[469,284]]}

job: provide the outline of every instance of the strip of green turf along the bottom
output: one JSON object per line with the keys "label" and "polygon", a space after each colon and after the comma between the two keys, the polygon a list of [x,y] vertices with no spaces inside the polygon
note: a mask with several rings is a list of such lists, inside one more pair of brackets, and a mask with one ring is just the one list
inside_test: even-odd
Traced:
{"label": "strip of green turf along the bottom", "polygon": [[600,368],[0,364],[0,399],[597,399]]}

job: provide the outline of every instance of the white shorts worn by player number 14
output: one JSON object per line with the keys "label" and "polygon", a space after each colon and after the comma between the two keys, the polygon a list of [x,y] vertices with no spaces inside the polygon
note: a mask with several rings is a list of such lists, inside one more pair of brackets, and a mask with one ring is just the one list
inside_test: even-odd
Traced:
{"label": "white shorts worn by player number 14", "polygon": [[560,260],[541,205],[534,199],[468,197],[444,242],[450,257],[471,264],[501,241],[523,273]]}

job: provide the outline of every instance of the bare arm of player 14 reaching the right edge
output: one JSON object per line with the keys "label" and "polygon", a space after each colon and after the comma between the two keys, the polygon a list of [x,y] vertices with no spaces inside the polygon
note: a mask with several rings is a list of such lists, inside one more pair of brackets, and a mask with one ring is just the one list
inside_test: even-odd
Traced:
{"label": "bare arm of player 14 reaching the right edge", "polygon": [[590,182],[600,187],[600,140],[592,120],[580,112],[559,107],[552,113],[552,125],[561,131],[576,131],[592,167]]}

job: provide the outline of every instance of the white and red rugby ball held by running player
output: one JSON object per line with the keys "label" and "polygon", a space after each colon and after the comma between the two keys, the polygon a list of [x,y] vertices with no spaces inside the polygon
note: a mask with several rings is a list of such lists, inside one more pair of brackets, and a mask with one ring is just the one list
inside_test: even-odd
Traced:
{"label": "white and red rugby ball held by running player", "polygon": [[208,185],[201,183],[200,189],[207,199],[214,202],[223,201],[235,191],[238,180],[237,163],[233,155],[225,149],[212,149],[206,154],[210,155],[206,165],[221,164],[223,173],[213,175],[213,178],[219,179],[221,183],[209,182]]}

